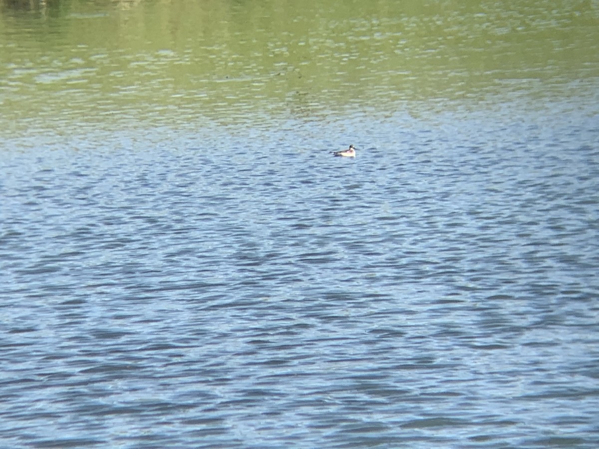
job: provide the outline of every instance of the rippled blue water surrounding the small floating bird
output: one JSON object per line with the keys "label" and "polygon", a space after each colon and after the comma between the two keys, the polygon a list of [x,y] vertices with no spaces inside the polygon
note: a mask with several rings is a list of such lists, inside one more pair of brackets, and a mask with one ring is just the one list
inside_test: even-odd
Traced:
{"label": "rippled blue water surrounding the small floating bird", "polygon": [[597,113],[517,107],[6,140],[0,445],[597,447]]}

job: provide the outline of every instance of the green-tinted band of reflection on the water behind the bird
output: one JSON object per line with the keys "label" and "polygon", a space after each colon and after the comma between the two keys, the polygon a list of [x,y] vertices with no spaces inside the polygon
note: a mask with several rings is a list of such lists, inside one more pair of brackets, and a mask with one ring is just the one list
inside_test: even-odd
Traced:
{"label": "green-tinted band of reflection on the water behind the bird", "polygon": [[598,5],[4,0],[0,123],[20,132],[417,113],[523,94],[595,101]]}

